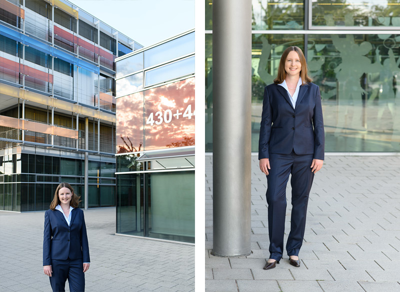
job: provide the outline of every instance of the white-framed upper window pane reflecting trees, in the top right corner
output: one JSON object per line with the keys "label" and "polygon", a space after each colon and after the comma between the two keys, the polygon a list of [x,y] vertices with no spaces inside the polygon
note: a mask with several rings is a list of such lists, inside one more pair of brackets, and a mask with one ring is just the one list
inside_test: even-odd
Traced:
{"label": "white-framed upper window pane reflecting trees, in the top right corner", "polygon": [[387,0],[312,1],[312,26],[400,26],[399,3]]}

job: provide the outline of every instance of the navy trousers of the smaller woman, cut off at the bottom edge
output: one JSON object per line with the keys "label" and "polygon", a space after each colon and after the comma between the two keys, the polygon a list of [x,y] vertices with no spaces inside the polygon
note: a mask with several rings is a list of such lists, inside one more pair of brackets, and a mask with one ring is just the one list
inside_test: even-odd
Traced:
{"label": "navy trousers of the smaller woman, cut off at the bottom edge", "polygon": [[70,292],[84,292],[82,259],[51,260],[51,270],[52,275],[49,279],[53,292],[64,292],[67,279]]}

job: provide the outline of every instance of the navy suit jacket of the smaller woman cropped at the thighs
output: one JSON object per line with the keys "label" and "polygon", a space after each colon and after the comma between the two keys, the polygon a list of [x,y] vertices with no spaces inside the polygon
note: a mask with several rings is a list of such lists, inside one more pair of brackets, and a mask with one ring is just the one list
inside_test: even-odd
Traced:
{"label": "navy suit jacket of the smaller woman cropped at the thighs", "polygon": [[58,210],[44,213],[43,266],[51,265],[51,260],[77,260],[90,263],[89,244],[83,211],[71,211],[70,225]]}

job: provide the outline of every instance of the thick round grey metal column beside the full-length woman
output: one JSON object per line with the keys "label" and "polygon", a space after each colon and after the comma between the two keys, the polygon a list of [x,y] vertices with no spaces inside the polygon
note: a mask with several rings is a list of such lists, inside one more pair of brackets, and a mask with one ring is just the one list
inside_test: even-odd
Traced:
{"label": "thick round grey metal column beside the full-length woman", "polygon": [[251,1],[212,3],[213,254],[250,249]]}

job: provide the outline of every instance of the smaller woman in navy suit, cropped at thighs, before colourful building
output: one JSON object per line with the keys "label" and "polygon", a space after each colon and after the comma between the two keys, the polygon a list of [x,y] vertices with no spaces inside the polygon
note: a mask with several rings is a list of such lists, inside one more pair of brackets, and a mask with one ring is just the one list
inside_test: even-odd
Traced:
{"label": "smaller woman in navy suit, cropped at thighs, before colourful building", "polygon": [[89,245],[79,198],[68,183],[55,190],[50,209],[44,213],[43,271],[53,292],[84,291],[84,272],[89,269]]}

